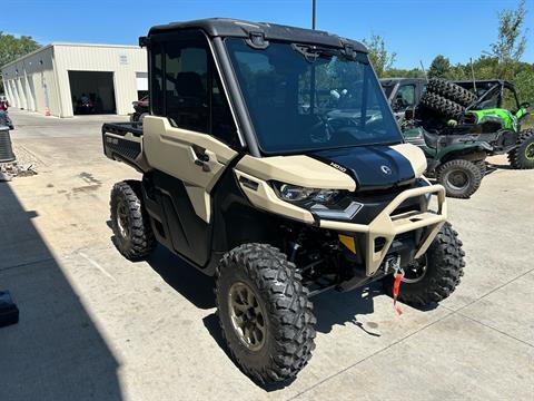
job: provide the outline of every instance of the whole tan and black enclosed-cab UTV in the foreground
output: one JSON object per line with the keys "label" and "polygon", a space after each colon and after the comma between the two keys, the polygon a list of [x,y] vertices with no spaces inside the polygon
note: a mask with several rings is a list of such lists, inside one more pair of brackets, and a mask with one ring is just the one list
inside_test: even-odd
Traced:
{"label": "whole tan and black enclosed-cab UTV in the foreground", "polygon": [[445,190],[423,177],[363,45],[231,19],[155,27],[140,45],[150,115],[102,127],[106,155],[142,173],[111,192],[116,245],[138,260],[158,242],[215,275],[244,372],[297,374],[319,292],[384,278],[423,306],[454,291],[464,253]]}

